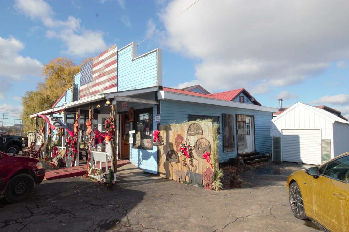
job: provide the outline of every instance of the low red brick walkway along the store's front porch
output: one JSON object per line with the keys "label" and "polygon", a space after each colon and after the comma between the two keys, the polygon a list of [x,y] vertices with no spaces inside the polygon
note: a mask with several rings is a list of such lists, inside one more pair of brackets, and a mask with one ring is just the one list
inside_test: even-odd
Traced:
{"label": "low red brick walkway along the store's front porch", "polygon": [[[117,161],[117,168],[131,163],[128,160],[118,160]],[[103,166],[104,164],[104,166]],[[97,163],[97,167],[99,167],[99,163]],[[105,170],[105,163],[102,163],[102,167]],[[108,161],[108,168],[111,168],[111,161]],[[78,166],[78,167],[71,167],[71,168],[64,168],[64,169],[58,169],[53,171],[48,171],[45,173],[45,180],[53,180],[53,179],[59,179],[59,178],[67,178],[67,177],[76,177],[76,176],[85,176],[86,175],[86,165]]]}

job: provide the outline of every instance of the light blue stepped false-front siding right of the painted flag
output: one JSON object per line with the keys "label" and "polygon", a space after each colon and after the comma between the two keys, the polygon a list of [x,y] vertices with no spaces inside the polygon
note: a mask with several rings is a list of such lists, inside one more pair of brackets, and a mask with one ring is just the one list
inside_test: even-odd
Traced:
{"label": "light blue stepped false-front siding right of the painted flag", "polygon": [[118,52],[118,92],[157,86],[157,52],[132,60],[132,45]]}

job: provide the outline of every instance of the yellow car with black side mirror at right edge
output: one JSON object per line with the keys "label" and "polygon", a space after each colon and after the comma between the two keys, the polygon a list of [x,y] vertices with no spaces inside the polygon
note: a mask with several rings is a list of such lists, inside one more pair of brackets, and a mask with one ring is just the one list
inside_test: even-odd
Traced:
{"label": "yellow car with black side mirror at right edge", "polygon": [[324,231],[349,231],[349,152],[287,178],[293,213]]}

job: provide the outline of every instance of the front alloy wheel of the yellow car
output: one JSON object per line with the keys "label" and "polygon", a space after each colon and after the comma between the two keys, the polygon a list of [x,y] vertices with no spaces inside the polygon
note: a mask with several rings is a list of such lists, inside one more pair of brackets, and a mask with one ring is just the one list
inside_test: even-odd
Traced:
{"label": "front alloy wheel of the yellow car", "polygon": [[290,185],[289,199],[294,215],[302,220],[307,219],[304,210],[302,193],[300,192],[299,186],[296,182]]}

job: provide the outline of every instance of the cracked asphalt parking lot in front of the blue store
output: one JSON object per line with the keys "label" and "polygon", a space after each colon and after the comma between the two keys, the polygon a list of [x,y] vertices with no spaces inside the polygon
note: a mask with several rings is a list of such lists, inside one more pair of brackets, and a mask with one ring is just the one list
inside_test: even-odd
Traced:
{"label": "cracked asphalt parking lot in front of the blue store", "polygon": [[320,231],[289,206],[286,179],[299,165],[280,165],[277,175],[269,166],[240,174],[251,185],[219,192],[139,171],[118,174],[113,186],[43,181],[24,202],[0,200],[0,231]]}

